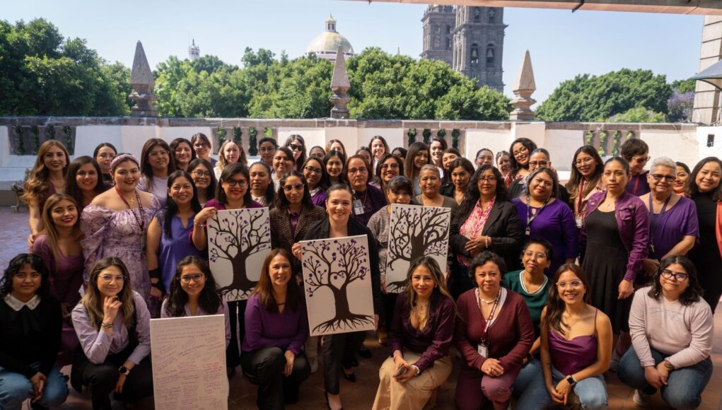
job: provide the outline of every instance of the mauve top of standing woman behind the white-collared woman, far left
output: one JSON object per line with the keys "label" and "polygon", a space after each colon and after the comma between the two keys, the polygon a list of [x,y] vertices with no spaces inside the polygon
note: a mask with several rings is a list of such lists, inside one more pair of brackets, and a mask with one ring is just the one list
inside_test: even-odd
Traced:
{"label": "mauve top of standing woman behind the white-collared woman, far left", "polygon": [[[58,252],[60,250],[58,249]],[[80,300],[80,287],[83,284],[83,256],[64,256],[56,259],[47,235],[38,235],[32,244],[32,253],[43,259],[50,270],[51,293],[70,307]]]}

